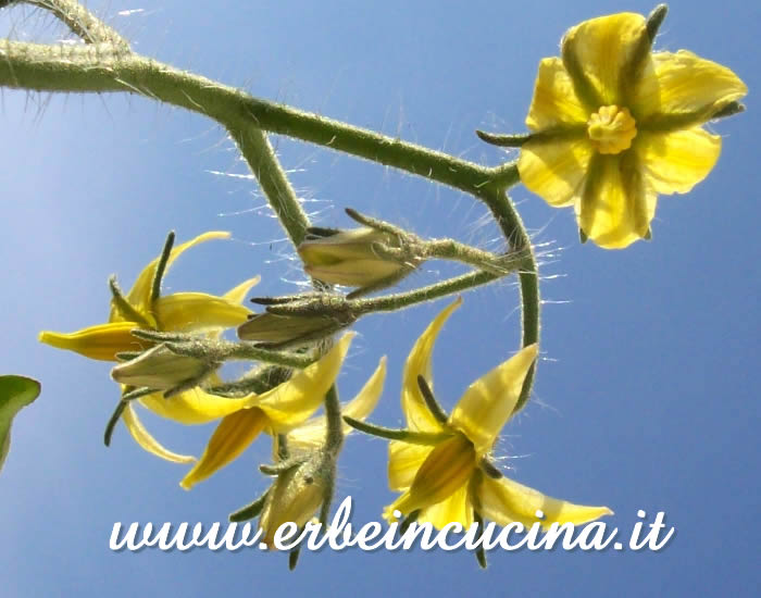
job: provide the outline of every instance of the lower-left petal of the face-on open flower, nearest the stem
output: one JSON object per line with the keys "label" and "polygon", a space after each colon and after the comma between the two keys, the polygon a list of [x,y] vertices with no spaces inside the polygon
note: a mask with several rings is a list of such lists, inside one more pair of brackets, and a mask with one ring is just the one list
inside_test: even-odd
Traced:
{"label": "lower-left petal of the face-on open flower, nearest the stem", "polygon": [[595,150],[583,134],[567,140],[528,141],[521,148],[517,172],[526,188],[550,205],[570,205],[581,192]]}

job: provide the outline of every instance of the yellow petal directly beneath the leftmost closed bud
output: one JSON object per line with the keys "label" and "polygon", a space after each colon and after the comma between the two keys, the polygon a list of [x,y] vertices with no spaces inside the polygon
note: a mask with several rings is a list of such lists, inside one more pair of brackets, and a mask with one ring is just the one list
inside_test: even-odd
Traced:
{"label": "yellow petal directly beneath the leftmost closed bud", "polygon": [[191,388],[165,399],[161,393],[140,397],[140,403],[157,415],[185,425],[205,424],[250,407],[252,395],[229,399]]}

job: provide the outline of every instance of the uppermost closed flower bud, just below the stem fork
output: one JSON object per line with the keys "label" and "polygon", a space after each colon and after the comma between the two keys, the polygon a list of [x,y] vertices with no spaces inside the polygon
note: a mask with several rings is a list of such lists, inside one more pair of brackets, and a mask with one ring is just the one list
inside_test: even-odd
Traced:
{"label": "uppermost closed flower bud, just below the stem fork", "polygon": [[401,277],[416,265],[411,256],[397,258],[378,251],[378,246],[398,250],[403,245],[399,235],[365,226],[308,238],[297,250],[310,276],[334,285],[367,287]]}

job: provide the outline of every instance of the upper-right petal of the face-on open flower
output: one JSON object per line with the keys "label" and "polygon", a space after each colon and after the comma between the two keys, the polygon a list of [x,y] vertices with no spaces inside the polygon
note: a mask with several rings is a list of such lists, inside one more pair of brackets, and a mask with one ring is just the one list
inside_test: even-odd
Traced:
{"label": "upper-right petal of the face-on open flower", "polygon": [[726,66],[686,50],[657,52],[648,61],[632,109],[638,117],[712,112],[747,92],[746,85]]}

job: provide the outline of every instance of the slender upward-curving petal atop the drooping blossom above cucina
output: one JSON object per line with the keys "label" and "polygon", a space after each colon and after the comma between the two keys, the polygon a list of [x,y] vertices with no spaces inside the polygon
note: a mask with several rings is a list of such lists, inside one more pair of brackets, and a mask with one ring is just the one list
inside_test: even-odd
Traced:
{"label": "slender upward-curving petal atop the drooping blossom above cucina", "polygon": [[404,418],[407,418],[407,424],[410,429],[419,432],[441,431],[441,424],[436,421],[425,406],[425,400],[417,386],[417,376],[423,376],[433,389],[431,361],[434,344],[447,319],[461,304],[462,299],[458,298],[454,302],[445,308],[428,327],[425,328],[425,332],[423,332],[414,347],[412,347],[412,351],[410,351],[407,358],[401,385],[401,409],[404,412]]}

